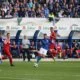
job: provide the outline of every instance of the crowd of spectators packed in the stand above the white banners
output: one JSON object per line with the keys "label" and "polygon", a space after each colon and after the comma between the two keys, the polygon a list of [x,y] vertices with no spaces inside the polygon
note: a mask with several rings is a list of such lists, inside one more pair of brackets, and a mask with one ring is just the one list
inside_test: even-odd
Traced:
{"label": "crowd of spectators packed in the stand above the white banners", "polygon": [[80,17],[80,0],[0,0],[0,17]]}

